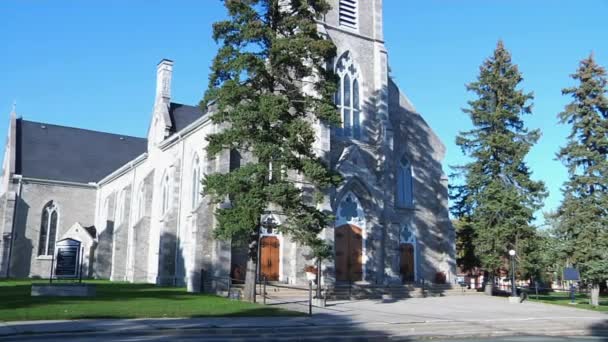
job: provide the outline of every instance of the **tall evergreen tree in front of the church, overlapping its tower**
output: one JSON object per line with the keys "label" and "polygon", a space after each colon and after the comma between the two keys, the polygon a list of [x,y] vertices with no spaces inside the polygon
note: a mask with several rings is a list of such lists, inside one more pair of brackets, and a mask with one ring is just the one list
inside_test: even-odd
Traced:
{"label": "tall evergreen tree in front of the church, overlapping its tower", "polygon": [[[222,129],[208,137],[208,155],[238,150],[248,162],[211,174],[205,191],[216,202],[216,237],[249,244],[245,298],[254,298],[257,242],[265,211],[286,217],[278,230],[327,257],[319,238],[330,215],[303,200],[293,182],[301,175],[323,189],[339,177],[315,155],[312,123],[340,120],[333,103],[337,77],[324,68],[334,44],[317,32],[328,10],[325,0],[224,0],[229,18],[213,26],[220,49],[213,61],[202,105],[213,103],[212,120]],[[289,176],[289,177],[288,177]]]}

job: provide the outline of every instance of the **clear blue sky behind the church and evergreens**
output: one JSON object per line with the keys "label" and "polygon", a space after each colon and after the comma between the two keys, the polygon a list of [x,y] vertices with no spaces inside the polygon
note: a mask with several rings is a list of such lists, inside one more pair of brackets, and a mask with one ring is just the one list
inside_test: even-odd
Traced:
{"label": "clear blue sky behind the church and evergreens", "polygon": [[[536,97],[525,120],[543,137],[528,162],[555,208],[566,176],[554,160],[567,134],[561,89],[591,51],[608,67],[608,1],[384,3],[392,75],[446,144],[446,172],[463,161],[454,138],[469,128],[464,85],[504,40]],[[216,51],[211,24],[224,15],[218,0],[0,1],[1,137],[13,100],[28,120],[144,136],[156,63],[175,61],[174,101],[198,103]]]}

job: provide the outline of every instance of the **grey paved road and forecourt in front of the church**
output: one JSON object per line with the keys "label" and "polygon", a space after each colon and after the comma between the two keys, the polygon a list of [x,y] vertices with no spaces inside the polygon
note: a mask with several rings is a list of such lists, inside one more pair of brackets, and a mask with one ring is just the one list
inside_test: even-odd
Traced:
{"label": "grey paved road and forecourt in front of the church", "polygon": [[513,335],[519,337],[503,341],[562,342],[572,340],[549,336],[583,335],[598,336],[591,341],[608,341],[608,315],[540,303],[514,305],[505,298],[466,296],[336,302],[325,309],[315,308],[313,317],[0,323],[0,341],[3,334],[13,334],[5,335],[7,341],[47,342],[409,341],[421,337],[469,341],[471,336]]}

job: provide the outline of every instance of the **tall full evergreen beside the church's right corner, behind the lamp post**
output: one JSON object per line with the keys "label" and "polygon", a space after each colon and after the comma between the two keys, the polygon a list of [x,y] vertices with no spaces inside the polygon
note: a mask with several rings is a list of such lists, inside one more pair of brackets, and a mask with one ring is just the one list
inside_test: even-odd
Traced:
{"label": "tall full evergreen beside the church's right corner, behind the lamp post", "polygon": [[533,96],[518,89],[522,76],[502,42],[479,71],[467,86],[476,98],[463,109],[473,129],[456,138],[470,162],[455,168],[462,181],[451,188],[451,209],[472,230],[474,253],[492,279],[505,266],[510,249],[526,264],[535,237],[531,222],[546,192],[524,162],[540,137],[522,120],[531,113]]}

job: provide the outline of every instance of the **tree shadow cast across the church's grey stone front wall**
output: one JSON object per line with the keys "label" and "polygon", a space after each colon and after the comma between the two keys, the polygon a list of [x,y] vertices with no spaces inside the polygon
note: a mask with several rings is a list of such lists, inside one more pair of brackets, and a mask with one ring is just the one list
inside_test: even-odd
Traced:
{"label": "tree shadow cast across the church's grey stone front wall", "polygon": [[[380,96],[388,98],[380,102]],[[453,231],[447,208],[447,188],[441,161],[445,148],[424,119],[408,110],[399,89],[389,81],[389,87],[377,91],[363,103],[363,141],[336,137],[332,132],[332,150],[328,156],[332,168],[338,164],[344,149],[356,144],[361,161],[359,165],[344,167],[345,183],[334,191],[332,209],[338,207],[341,196],[352,191],[361,201],[367,221],[366,281],[381,284],[384,271],[399,271],[399,230],[405,223],[417,232],[416,257],[418,277],[434,281],[439,272],[453,269]],[[387,103],[389,108],[379,108]],[[393,151],[382,141],[384,129],[379,110],[389,113],[392,126]],[[386,155],[381,159],[378,155]],[[403,155],[414,169],[414,207],[395,208],[397,163]],[[351,163],[352,164],[352,163]],[[341,169],[341,171],[343,171]],[[389,190],[388,192],[386,190]],[[333,241],[333,229],[327,238]],[[334,271],[333,262],[327,264],[327,274]],[[371,272],[370,272],[371,271]],[[452,279],[450,279],[453,281]]]}

